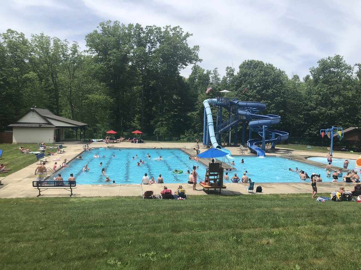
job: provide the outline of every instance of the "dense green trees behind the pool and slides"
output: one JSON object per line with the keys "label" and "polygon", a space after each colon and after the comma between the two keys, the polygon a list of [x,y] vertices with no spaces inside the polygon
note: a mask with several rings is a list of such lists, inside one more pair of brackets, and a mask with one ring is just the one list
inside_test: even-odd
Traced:
{"label": "dense green trees behind the pool and slides", "polygon": [[[86,35],[81,51],[77,42],[44,33],[29,40],[9,29],[0,34],[0,131],[36,105],[88,123],[89,137],[109,129],[119,135],[140,129],[159,139],[199,136],[203,100],[223,89],[238,100],[266,103],[263,113],[281,116],[277,129],[293,137],[360,126],[360,64],[340,55],[322,58],[301,80],[271,63],[245,60],[221,77],[218,68],[200,66],[200,48],[188,45],[190,36],[179,26],[107,21]],[[181,76],[192,64],[190,76]]]}

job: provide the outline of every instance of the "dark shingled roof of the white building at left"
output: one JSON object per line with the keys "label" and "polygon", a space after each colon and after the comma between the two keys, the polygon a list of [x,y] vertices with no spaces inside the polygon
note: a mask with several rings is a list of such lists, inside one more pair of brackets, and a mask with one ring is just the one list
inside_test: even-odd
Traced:
{"label": "dark shingled roof of the white building at left", "polygon": [[[48,123],[26,123],[26,122],[16,122],[14,124],[9,125],[9,127],[86,127],[88,124],[74,121],[65,117],[57,116],[53,114],[48,109],[37,109],[31,108],[29,112],[38,113],[46,122]],[[27,112],[26,114],[28,114]],[[26,115],[25,114],[25,115]],[[66,125],[54,124],[52,120],[63,122]],[[69,126],[70,125],[70,126]]]}

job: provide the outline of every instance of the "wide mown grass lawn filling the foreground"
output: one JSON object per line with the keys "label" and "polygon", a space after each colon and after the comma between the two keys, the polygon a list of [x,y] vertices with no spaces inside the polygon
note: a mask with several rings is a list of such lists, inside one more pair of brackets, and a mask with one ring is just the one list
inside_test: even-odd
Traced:
{"label": "wide mown grass lawn filling the foreground", "polygon": [[0,199],[0,268],[360,269],[361,204],[310,196]]}

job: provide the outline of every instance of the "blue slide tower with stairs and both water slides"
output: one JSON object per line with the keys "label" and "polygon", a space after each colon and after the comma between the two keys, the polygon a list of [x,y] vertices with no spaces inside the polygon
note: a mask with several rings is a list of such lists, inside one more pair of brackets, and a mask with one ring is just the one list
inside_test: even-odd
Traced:
{"label": "blue slide tower with stairs and both water slides", "polygon": [[[229,132],[229,144],[231,143],[231,129],[238,130],[238,123],[242,122],[242,144],[245,137],[245,122],[249,122],[249,140],[247,146],[256,152],[257,156],[265,156],[266,144],[271,143],[272,148],[280,141],[288,139],[288,133],[284,131],[272,130],[272,125],[280,122],[280,117],[274,114],[261,115],[259,112],[266,109],[266,104],[262,102],[238,101],[237,98],[213,98],[206,99],[204,105],[203,123],[203,144],[212,145],[213,148],[222,149],[221,134]],[[214,125],[210,105],[217,106],[216,125]],[[228,112],[228,119],[222,122],[223,108]],[[252,131],[261,138],[252,139]],[[234,133],[234,143],[237,144],[237,133]],[[258,145],[261,145],[259,147]],[[225,149],[222,149],[225,151]],[[225,151],[226,152],[226,151]]]}

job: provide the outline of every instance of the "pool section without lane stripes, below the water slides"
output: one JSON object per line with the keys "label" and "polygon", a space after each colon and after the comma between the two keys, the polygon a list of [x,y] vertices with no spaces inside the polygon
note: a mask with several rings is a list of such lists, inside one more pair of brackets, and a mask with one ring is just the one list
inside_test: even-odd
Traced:
{"label": "pool section without lane stripes, below the water slides", "polygon": [[[244,163],[240,163],[242,158],[244,159]],[[243,172],[247,170],[247,176],[251,178],[253,182],[257,183],[304,182],[304,180],[300,179],[300,175],[296,171],[288,170],[288,168],[295,170],[296,167],[298,167],[299,170],[307,172],[309,176],[311,176],[313,172],[321,174],[323,182],[331,181],[330,178],[326,177],[324,167],[309,165],[294,159],[275,156],[234,156],[229,159],[230,161],[235,162],[233,167],[237,168],[235,172],[239,178],[241,178],[243,176]],[[231,179],[234,175],[234,171],[229,171],[228,175]],[[227,183],[227,181],[224,181],[224,183]]]}

